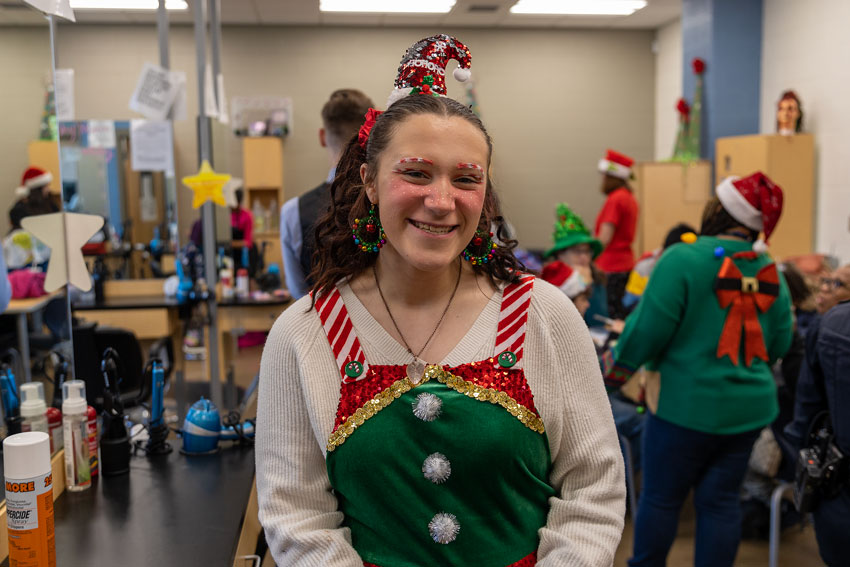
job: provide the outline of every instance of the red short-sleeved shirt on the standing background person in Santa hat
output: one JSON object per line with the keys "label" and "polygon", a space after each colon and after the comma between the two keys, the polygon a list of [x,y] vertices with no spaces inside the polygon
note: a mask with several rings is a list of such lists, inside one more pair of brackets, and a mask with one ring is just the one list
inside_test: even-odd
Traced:
{"label": "red short-sleeved shirt on the standing background person in Santa hat", "polygon": [[628,272],[635,265],[635,255],[632,252],[632,242],[635,239],[638,206],[632,192],[625,187],[615,189],[608,194],[599,216],[596,217],[594,233],[599,237],[602,224],[610,222],[614,225],[614,236],[611,242],[596,259],[596,265],[603,272]]}

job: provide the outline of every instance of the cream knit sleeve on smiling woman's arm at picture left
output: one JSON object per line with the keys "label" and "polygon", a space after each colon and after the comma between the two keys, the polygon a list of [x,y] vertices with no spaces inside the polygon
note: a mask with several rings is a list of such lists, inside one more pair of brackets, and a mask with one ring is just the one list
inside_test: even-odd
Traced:
{"label": "cream knit sleeve on smiling woman's arm at picture left", "polygon": [[[331,491],[321,435],[311,423],[304,366],[324,339],[304,298],[278,318],[263,350],[257,407],[259,517],[278,565],[362,567]],[[324,343],[327,345],[327,341]],[[330,356],[328,351],[328,356]],[[332,367],[332,366],[331,366]],[[337,378],[338,380],[338,378]],[[338,382],[337,382],[338,383]],[[328,384],[326,390],[332,386]],[[339,399],[327,392],[330,403]],[[332,419],[332,417],[331,417]]]}

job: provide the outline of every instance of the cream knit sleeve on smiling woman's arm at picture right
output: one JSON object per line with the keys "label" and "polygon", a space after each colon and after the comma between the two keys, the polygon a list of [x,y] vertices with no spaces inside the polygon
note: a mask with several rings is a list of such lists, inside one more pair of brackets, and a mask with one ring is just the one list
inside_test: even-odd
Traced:
{"label": "cream knit sleeve on smiling woman's arm at picture right", "polygon": [[553,425],[547,425],[549,481],[556,490],[540,530],[538,566],[612,565],[623,532],[626,485],[596,352],[563,293],[541,280],[534,282],[534,291],[526,372],[532,380],[554,382],[538,386],[549,395],[535,393],[535,404],[544,423]]}

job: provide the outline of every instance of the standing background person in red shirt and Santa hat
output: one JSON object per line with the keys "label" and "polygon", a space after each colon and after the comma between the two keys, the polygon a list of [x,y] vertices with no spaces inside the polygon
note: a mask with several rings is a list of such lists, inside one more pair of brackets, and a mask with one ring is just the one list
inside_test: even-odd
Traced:
{"label": "standing background person in red shirt and Santa hat", "polygon": [[596,217],[594,229],[594,235],[603,247],[596,265],[605,272],[608,316],[612,319],[626,316],[623,294],[629,272],[635,265],[632,242],[637,229],[638,204],[629,187],[633,164],[632,158],[614,150],[608,150],[605,158],[599,160],[601,189],[607,197]]}

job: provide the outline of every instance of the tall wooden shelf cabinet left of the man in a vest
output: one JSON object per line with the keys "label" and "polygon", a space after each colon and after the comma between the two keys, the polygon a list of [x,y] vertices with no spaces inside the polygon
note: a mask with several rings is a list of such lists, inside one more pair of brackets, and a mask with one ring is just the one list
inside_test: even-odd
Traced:
{"label": "tall wooden shelf cabinet left of the man in a vest", "polygon": [[[259,203],[264,218],[254,219],[254,240],[267,243],[265,261],[282,269],[280,252],[280,207],[283,205],[283,140],[275,137],[242,139],[242,179],[245,208],[252,213]],[[255,215],[256,216],[256,215]]]}

